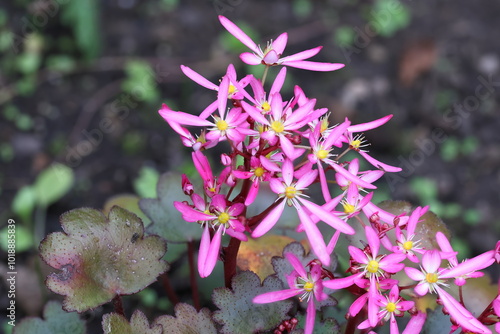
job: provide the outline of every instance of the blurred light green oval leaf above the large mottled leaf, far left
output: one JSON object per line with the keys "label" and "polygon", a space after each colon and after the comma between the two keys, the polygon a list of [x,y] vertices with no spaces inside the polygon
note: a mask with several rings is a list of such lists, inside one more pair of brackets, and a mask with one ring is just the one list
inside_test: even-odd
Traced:
{"label": "blurred light green oval leaf above the large mottled leaf, far left", "polygon": [[73,170],[63,164],[54,163],[36,178],[34,189],[37,204],[47,207],[57,202],[73,186]]}

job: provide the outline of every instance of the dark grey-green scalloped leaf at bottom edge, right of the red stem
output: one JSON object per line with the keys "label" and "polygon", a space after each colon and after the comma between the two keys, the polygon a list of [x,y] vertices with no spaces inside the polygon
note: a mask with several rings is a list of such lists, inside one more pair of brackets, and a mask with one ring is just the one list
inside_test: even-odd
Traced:
{"label": "dark grey-green scalloped leaf at bottom edge, right of the red stem", "polygon": [[283,300],[269,304],[254,304],[252,299],[265,292],[283,290],[283,284],[269,276],[260,284],[260,278],[251,271],[244,271],[233,277],[232,291],[228,288],[214,290],[212,299],[220,309],[213,319],[223,325],[221,333],[256,333],[278,326],[288,319],[287,313],[293,303]]}

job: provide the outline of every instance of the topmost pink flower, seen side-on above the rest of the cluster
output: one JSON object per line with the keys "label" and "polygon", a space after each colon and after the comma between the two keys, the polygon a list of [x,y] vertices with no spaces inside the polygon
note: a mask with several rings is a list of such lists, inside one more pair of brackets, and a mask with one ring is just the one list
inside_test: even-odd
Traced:
{"label": "topmost pink flower, seen side-on above the rest of the cluster", "polygon": [[266,66],[286,65],[311,71],[335,71],[345,66],[344,64],[317,63],[304,60],[315,56],[321,50],[321,46],[282,58],[281,55],[285,50],[288,40],[286,33],[279,35],[278,38],[268,43],[267,47],[262,50],[247,34],[226,17],[220,15],[219,21],[231,35],[253,51],[253,53],[245,52],[240,55],[241,60],[246,64],[264,64]]}

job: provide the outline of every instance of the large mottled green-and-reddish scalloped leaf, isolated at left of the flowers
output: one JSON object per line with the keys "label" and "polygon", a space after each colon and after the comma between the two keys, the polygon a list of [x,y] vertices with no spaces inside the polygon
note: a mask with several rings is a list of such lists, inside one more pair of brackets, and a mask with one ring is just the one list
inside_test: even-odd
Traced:
{"label": "large mottled green-and-reddish scalloped leaf, isolated at left of the flowers", "polygon": [[168,269],[161,260],[165,242],[144,236],[142,221],[118,206],[109,218],[82,208],[61,216],[64,232],[49,234],[40,255],[61,270],[47,277],[47,287],[66,296],[66,311],[83,312],[111,301],[116,295],[136,293]]}

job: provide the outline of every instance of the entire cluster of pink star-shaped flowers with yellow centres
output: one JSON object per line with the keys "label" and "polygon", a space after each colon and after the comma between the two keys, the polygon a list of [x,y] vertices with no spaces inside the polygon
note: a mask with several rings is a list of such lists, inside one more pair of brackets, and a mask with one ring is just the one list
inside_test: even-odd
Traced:
{"label": "entire cluster of pink star-shaped flowers with yellow centres", "polygon": [[[396,317],[409,313],[412,318],[405,333],[418,333],[425,313],[417,311],[414,302],[407,299],[431,293],[438,295],[454,328],[491,333],[485,319],[499,313],[498,298],[492,302],[490,312],[478,319],[465,308],[463,300],[457,301],[447,290],[452,282],[461,287],[467,279],[482,275],[479,270],[498,262],[498,250],[459,263],[444,234],[436,235],[439,249],[425,249],[421,240],[417,240],[415,231],[427,207],[396,216],[372,202],[372,191],[376,189],[373,183],[385,173],[398,172],[400,168],[373,157],[367,150],[369,144],[364,132],[385,124],[392,115],[363,124],[352,124],[347,118],[331,124],[328,109],[318,107],[316,99],[308,97],[299,86],[294,87],[293,96],[288,98],[282,95],[281,89],[287,66],[333,71],[344,65],[306,60],[315,56],[321,47],[283,56],[286,33],[262,49],[230,20],[223,16],[219,20],[252,51],[242,53],[241,60],[249,65],[265,66],[264,77],[238,78],[234,66],[229,65],[220,82],[215,84],[182,66],[189,78],[215,91],[216,100],[198,115],[174,111],[166,105],[159,111],[180,135],[183,144],[192,148],[193,163],[203,180],[203,189],[196,192],[184,176],[182,187],[190,201],[174,203],[184,220],[203,228],[198,257],[200,275],[209,276],[214,269],[221,252],[222,235],[227,233],[240,241],[261,237],[273,229],[288,206],[297,212],[296,230],[305,232],[317,260],[306,266],[307,271],[297,257],[285,254],[294,268],[288,275],[289,289],[257,296],[255,303],[299,296],[301,301],[307,301],[305,332],[312,333],[315,301],[327,298],[327,289],[349,289],[357,296],[349,309],[349,317],[364,315],[364,320],[357,324],[359,329],[368,330],[389,322],[391,333],[398,333]],[[273,66],[283,67],[267,89],[265,78]],[[224,168],[215,175],[205,151],[221,143],[229,150],[221,156]],[[342,160],[349,151],[355,153],[354,157],[350,161]],[[360,159],[365,160],[370,169],[361,170]],[[313,199],[309,189],[315,184],[321,196]],[[254,203],[263,185],[275,193],[275,201],[250,217],[247,208]],[[354,224],[364,232],[356,238],[364,240],[365,246],[348,248],[351,275],[335,278],[324,275],[323,266],[330,264],[340,235],[355,234]],[[320,227],[333,236],[325,240]],[[443,261],[448,266],[442,265]],[[417,283],[403,286],[405,280]]]}

